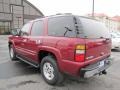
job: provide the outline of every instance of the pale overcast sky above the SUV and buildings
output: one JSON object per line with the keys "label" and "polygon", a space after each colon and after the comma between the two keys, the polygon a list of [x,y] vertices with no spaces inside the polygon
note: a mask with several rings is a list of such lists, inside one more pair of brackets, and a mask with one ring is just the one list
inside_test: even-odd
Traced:
{"label": "pale overcast sky above the SUV and buildings", "polygon": [[[73,13],[85,15],[92,11],[93,0],[28,0],[44,15]],[[120,15],[120,0],[95,0],[95,12],[108,16]]]}

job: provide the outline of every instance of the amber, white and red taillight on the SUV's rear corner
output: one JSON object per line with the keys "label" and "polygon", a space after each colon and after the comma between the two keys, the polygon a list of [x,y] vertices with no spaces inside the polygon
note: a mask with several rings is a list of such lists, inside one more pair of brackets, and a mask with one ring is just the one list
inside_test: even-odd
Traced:
{"label": "amber, white and red taillight on the SUV's rear corner", "polygon": [[75,49],[75,61],[84,62],[85,60],[85,45],[77,45]]}

